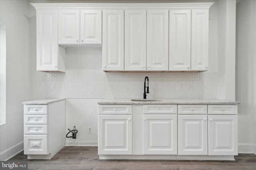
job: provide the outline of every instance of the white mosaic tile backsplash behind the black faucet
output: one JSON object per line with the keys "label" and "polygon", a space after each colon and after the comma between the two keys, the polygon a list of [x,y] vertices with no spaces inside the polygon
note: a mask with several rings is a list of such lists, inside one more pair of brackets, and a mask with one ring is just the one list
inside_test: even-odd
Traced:
{"label": "white mosaic tile backsplash behind the black faucet", "polygon": [[[217,73],[113,73],[67,70],[47,73],[46,98],[143,98],[144,78],[149,78],[147,98],[217,98]],[[55,83],[55,89],[51,84]],[[176,85],[181,89],[177,90]]]}

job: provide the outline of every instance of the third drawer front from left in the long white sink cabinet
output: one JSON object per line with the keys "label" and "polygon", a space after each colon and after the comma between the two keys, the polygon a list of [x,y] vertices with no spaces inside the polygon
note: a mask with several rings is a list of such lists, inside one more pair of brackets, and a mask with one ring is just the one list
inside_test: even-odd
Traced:
{"label": "third drawer front from left in the long white sink cabinet", "polygon": [[207,105],[178,105],[178,114],[184,114],[184,115],[207,114]]}

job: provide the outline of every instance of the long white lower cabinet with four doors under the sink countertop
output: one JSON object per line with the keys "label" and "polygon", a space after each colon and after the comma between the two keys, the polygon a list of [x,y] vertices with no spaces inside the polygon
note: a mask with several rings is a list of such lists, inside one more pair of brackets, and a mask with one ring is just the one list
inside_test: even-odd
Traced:
{"label": "long white lower cabinet with four doors under the sink countertop", "polygon": [[99,105],[98,154],[100,159],[234,160],[237,124],[237,105]]}

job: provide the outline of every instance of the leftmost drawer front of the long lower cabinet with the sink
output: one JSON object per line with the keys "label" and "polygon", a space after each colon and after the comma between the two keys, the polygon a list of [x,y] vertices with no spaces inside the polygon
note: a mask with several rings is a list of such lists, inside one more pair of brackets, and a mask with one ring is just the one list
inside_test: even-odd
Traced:
{"label": "leftmost drawer front of the long lower cabinet with the sink", "polygon": [[131,115],[132,105],[99,105],[99,115]]}

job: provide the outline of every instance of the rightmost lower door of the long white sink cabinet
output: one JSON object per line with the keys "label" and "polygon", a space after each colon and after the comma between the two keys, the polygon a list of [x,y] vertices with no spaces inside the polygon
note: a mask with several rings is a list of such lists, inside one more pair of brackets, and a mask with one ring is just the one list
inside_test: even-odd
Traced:
{"label": "rightmost lower door of the long white sink cabinet", "polygon": [[237,115],[209,115],[209,155],[237,155]]}

